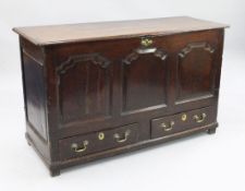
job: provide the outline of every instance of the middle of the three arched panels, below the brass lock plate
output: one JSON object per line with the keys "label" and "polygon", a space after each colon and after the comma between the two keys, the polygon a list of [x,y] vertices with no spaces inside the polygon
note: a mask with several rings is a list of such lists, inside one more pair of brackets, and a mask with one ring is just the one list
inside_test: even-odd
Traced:
{"label": "middle of the three arched panels, below the brass lock plate", "polygon": [[142,51],[122,61],[123,112],[166,107],[168,55],[156,48]]}

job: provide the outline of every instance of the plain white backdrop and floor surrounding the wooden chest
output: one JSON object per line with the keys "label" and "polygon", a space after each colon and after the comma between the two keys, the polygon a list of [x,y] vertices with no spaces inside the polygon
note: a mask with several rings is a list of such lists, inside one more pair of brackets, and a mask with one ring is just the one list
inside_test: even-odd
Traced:
{"label": "plain white backdrop and floor surrounding the wooden chest", "polygon": [[[245,190],[245,3],[243,0],[1,0],[1,190]],[[50,178],[27,146],[14,26],[189,15],[230,24],[215,135],[170,142]]]}

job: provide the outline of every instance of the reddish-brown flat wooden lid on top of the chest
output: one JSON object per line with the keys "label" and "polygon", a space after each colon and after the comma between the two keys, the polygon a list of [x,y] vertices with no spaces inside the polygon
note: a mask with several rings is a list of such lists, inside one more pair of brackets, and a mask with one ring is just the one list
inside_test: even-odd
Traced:
{"label": "reddish-brown flat wooden lid on top of the chest", "polygon": [[228,27],[225,24],[188,16],[112,21],[64,25],[15,27],[14,32],[35,45],[126,38],[143,35],[171,35]]}

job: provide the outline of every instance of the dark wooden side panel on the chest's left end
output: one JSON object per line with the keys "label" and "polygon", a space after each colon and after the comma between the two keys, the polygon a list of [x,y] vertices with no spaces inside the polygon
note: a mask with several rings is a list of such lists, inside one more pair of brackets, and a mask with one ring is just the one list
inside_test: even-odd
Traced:
{"label": "dark wooden side panel on the chest's left end", "polygon": [[24,99],[28,127],[47,141],[44,55],[41,49],[21,39]]}

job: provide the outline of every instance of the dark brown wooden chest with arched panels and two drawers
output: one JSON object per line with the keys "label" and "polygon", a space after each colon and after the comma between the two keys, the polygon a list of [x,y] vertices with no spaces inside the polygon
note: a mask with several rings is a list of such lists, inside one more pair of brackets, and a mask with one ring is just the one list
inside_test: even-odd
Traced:
{"label": "dark brown wooden chest with arched panels and two drawers", "polygon": [[56,176],[213,133],[225,27],[184,16],[14,28],[28,143]]}

